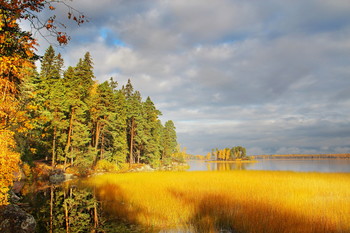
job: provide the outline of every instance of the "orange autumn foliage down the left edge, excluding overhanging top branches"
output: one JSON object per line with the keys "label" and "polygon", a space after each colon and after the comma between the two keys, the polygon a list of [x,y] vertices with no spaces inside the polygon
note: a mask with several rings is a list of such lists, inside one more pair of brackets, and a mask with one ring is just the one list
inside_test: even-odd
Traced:
{"label": "orange autumn foliage down the left edge, excluding overhanging top branches", "polygon": [[28,69],[34,67],[34,39],[23,32],[16,15],[0,8],[0,204],[7,203],[6,192],[18,169],[19,154],[14,152],[14,128],[21,121],[18,90]]}

